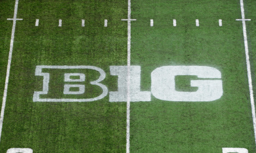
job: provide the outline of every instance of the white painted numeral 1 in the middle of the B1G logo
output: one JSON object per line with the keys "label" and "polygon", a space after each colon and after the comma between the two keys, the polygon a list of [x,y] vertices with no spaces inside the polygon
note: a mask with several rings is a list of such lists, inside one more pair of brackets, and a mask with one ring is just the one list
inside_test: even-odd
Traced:
{"label": "white painted numeral 1 in the middle of the B1G logo", "polygon": [[[109,92],[109,101],[127,101],[127,66],[110,66],[110,74],[118,76],[118,91]],[[150,100],[150,91],[140,91],[140,66],[130,66],[130,101]]]}

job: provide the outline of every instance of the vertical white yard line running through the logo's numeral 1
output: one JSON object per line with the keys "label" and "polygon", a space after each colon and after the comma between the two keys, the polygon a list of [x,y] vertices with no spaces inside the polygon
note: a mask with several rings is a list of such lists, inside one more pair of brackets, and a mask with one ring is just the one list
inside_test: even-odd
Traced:
{"label": "vertical white yard line running through the logo's numeral 1", "polygon": [[128,18],[121,19],[127,21],[127,107],[126,107],[126,153],[130,153],[130,65],[131,65],[131,1],[128,0]]}

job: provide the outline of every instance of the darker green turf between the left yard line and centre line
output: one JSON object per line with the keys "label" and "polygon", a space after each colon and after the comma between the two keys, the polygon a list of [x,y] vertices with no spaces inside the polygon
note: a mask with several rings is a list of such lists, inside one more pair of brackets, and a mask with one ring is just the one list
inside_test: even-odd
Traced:
{"label": "darker green turf between the left yard line and centre line", "polygon": [[[125,152],[126,103],[110,103],[108,96],[82,103],[33,102],[32,97],[42,90],[43,77],[35,76],[36,65],[97,66],[106,72],[102,83],[117,90],[117,77],[110,76],[109,66],[127,64],[127,23],[121,21],[126,16],[126,1],[19,1],[17,17],[23,21],[16,25],[0,152],[13,147],[32,148],[35,153]],[[10,34],[12,23],[5,26]],[[6,43],[8,48],[10,42]],[[8,55],[4,56],[5,66]],[[64,72],[52,71],[48,96],[58,98]],[[88,84],[98,74],[87,71],[87,77]],[[86,88],[86,93],[89,98],[100,90]]]}

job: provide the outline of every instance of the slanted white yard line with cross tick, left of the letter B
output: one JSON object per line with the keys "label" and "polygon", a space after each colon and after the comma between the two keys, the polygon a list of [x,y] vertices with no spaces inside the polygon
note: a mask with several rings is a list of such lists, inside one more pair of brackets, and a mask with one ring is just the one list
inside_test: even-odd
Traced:
{"label": "slanted white yard line with cross tick, left of the letter B", "polygon": [[15,27],[16,27],[16,20],[22,20],[22,19],[17,19],[17,12],[18,12],[18,0],[15,1],[14,15],[13,15],[13,18],[12,18],[12,20],[13,20],[13,28],[12,28],[12,36],[11,36],[11,42],[10,42],[10,51],[9,51],[9,57],[8,57],[6,78],[5,78],[4,96],[3,96],[1,115],[0,115],[0,140],[1,140],[1,135],[2,135],[2,127],[3,127],[3,120],[4,120],[4,110],[5,110],[5,103],[6,103],[6,97],[7,97],[7,88],[8,88],[10,68],[11,68],[11,61],[12,61],[12,54],[13,54],[13,41],[14,41],[14,33],[15,33]]}

